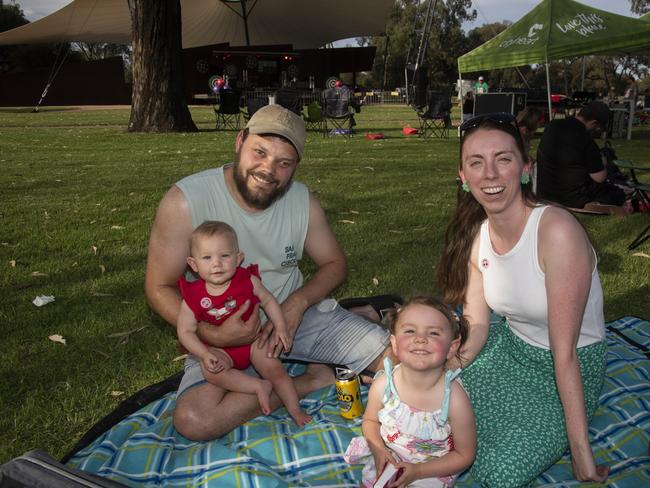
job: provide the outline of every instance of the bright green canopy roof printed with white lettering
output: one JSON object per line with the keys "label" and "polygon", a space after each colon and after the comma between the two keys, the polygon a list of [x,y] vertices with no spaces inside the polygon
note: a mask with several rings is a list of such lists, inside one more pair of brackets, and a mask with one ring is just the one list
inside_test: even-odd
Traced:
{"label": "bright green canopy roof printed with white lettering", "polygon": [[573,0],[543,0],[493,39],[458,58],[458,71],[512,68],[650,47],[650,22]]}

